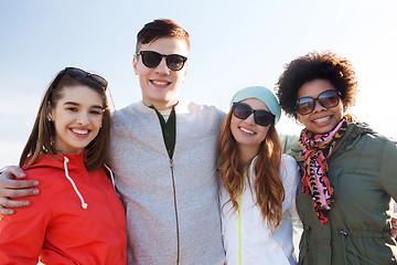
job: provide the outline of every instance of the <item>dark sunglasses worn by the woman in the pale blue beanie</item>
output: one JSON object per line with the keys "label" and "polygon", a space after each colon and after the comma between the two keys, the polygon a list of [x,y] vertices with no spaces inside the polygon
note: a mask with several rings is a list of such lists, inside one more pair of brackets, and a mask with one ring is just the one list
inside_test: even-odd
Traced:
{"label": "dark sunglasses worn by the woman in the pale blue beanie", "polygon": [[245,103],[233,103],[232,112],[233,112],[233,115],[239,119],[246,119],[251,114],[254,114],[255,123],[260,126],[268,126],[269,124],[275,121],[275,117],[276,117],[268,110],[253,109],[249,105],[247,105]]}

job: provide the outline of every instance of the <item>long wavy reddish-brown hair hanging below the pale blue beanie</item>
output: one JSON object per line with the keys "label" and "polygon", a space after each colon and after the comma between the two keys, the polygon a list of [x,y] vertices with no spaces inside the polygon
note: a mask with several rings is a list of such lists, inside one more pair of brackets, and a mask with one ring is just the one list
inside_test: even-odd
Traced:
{"label": "long wavy reddish-brown hair hanging below the pale blue beanie", "polygon": [[[244,165],[238,157],[237,141],[230,131],[232,110],[227,114],[221,128],[221,193],[226,191],[234,212],[238,210],[238,197],[244,187]],[[256,205],[260,209],[264,221],[267,222],[272,231],[280,224],[282,214],[282,201],[285,200],[285,189],[280,178],[279,169],[281,165],[281,141],[273,124],[270,125],[265,140],[260,144],[259,153],[255,163]],[[249,187],[249,189],[253,189]],[[225,203],[225,204],[226,204]],[[222,205],[223,206],[225,206]]]}

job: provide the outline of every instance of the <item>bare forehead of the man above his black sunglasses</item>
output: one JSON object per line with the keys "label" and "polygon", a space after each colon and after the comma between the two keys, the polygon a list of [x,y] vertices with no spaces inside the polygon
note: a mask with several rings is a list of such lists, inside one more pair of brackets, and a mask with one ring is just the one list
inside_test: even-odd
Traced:
{"label": "bare forehead of the man above his black sunglasses", "polygon": [[141,44],[139,51],[154,51],[161,54],[181,54],[189,56],[186,41],[179,38],[161,38],[151,43]]}

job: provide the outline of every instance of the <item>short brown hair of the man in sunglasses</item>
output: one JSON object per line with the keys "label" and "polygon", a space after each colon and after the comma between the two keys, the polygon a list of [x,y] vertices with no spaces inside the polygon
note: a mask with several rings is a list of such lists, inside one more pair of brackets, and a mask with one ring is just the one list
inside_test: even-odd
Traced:
{"label": "short brown hair of the man in sunglasses", "polygon": [[190,49],[189,33],[174,21],[169,19],[158,19],[147,23],[137,35],[136,53],[142,44],[152,43],[161,38],[178,38],[184,40]]}

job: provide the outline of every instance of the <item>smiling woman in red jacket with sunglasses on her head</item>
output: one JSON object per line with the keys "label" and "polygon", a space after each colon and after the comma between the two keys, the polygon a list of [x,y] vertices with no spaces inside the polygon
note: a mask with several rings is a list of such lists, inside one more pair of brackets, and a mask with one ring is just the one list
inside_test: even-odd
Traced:
{"label": "smiling woman in red jacket with sunglasses on her head", "polygon": [[125,210],[104,163],[106,88],[101,76],[74,67],[51,83],[20,159],[41,193],[0,215],[1,264],[127,263]]}

